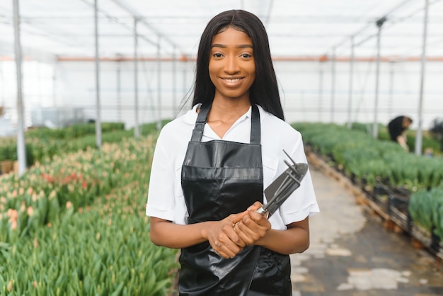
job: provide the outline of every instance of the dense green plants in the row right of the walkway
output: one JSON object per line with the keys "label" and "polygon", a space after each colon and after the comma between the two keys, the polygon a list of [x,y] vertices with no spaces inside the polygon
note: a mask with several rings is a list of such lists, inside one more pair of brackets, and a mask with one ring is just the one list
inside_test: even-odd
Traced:
{"label": "dense green plants in the row right of the walkway", "polygon": [[[415,200],[409,203],[413,220],[418,217],[432,218],[432,229],[443,241],[443,208],[441,191],[436,189],[443,183],[443,158],[441,156],[418,156],[408,153],[395,142],[377,140],[362,130],[348,130],[346,127],[324,123],[294,123],[293,127],[301,132],[304,142],[315,152],[326,156],[331,166],[343,171],[346,176],[359,183],[369,193],[378,184],[383,184],[391,192],[401,192]],[[423,195],[429,197],[422,201]],[[428,203],[415,207],[416,200]],[[430,202],[429,200],[432,200]],[[408,208],[408,206],[406,206]],[[415,220],[414,222],[419,222]],[[430,230],[429,224],[425,224]]]}

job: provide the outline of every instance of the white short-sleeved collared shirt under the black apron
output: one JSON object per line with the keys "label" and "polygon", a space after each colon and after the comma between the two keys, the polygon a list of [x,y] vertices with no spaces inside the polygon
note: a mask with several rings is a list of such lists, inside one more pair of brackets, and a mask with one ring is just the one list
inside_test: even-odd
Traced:
{"label": "white short-sleeved collared shirt under the black apron", "polygon": [[[198,106],[200,104],[166,124],[160,132],[152,161],[146,205],[147,216],[159,217],[176,224],[186,224],[188,210],[181,188],[181,167],[197,119]],[[306,155],[301,135],[297,130],[276,116],[267,113],[260,106],[258,109],[260,110],[263,188],[266,188],[287,169],[287,165],[284,164],[284,159],[287,159],[287,156],[283,149],[296,162],[306,163]],[[223,139],[220,139],[209,125],[205,125],[202,142],[226,140],[249,143],[251,139],[250,118],[251,108],[241,118],[238,118]],[[260,199],[262,197],[257,197],[257,200],[261,201]],[[266,204],[264,195],[263,200]],[[301,186],[270,217],[270,222],[273,229],[287,229],[287,224],[304,220],[316,212],[319,212],[319,208],[311,175],[308,171],[301,181]]]}

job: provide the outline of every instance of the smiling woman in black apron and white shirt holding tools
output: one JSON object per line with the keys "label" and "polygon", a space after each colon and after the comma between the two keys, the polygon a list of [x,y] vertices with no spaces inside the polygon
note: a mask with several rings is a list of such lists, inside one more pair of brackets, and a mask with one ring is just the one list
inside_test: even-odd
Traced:
{"label": "smiling woman in black apron and white shirt holding tools", "polygon": [[181,249],[180,295],[291,295],[289,254],[309,246],[311,177],[269,220],[263,188],[306,162],[284,122],[263,23],[225,11],[200,40],[192,110],[159,135],[146,215],[151,240]]}

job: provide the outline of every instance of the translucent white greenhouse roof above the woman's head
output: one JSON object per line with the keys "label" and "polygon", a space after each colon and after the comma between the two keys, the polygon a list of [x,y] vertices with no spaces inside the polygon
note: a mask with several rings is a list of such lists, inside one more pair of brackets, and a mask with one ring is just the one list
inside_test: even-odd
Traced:
{"label": "translucent white greenhouse roof above the woman's head", "polygon": [[[0,1],[0,56],[13,55],[13,1]],[[18,1],[25,55],[94,57],[93,0]],[[427,55],[442,57],[443,1],[429,5]],[[140,57],[156,57],[158,44],[161,57],[194,57],[209,19],[242,8],[265,23],[274,57],[318,58],[333,47],[346,57],[351,36],[357,57],[374,57],[375,22],[383,16],[381,55],[420,57],[424,6],[425,0],[98,0],[100,56],[132,57],[138,17]]]}

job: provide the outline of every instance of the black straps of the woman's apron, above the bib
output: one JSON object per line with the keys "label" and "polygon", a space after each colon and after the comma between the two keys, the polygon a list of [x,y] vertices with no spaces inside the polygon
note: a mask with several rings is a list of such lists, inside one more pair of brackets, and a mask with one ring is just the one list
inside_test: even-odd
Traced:
{"label": "black straps of the woman's apron, above the bib", "polygon": [[[192,130],[192,142],[201,142],[203,130],[207,120],[207,114],[211,109],[212,103],[200,106],[200,112],[195,120],[195,127]],[[251,112],[251,144],[260,144],[260,111],[258,107],[253,104]]]}

